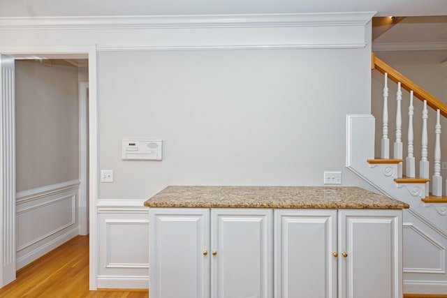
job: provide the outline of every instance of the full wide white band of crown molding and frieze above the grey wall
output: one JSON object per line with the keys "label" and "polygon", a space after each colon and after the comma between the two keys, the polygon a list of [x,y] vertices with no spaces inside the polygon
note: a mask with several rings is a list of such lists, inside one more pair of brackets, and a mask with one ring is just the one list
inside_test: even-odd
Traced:
{"label": "full wide white band of crown molding and frieze above the grey wall", "polygon": [[98,51],[359,48],[369,43],[365,27],[374,14],[3,17],[0,52],[27,36],[53,45],[93,42]]}

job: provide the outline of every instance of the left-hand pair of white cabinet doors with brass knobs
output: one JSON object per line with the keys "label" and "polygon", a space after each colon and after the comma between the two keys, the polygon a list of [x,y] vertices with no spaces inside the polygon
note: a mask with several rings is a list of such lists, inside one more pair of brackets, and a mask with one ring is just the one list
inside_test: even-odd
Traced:
{"label": "left-hand pair of white cabinet doors with brass knobs", "polygon": [[272,297],[271,209],[149,209],[151,298]]}

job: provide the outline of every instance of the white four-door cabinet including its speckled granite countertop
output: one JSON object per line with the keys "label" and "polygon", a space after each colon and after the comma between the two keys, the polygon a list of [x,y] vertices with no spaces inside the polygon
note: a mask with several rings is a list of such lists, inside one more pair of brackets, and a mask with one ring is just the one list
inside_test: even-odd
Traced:
{"label": "white four-door cabinet including its speckled granite countertop", "polygon": [[151,298],[402,298],[402,209],[355,187],[168,186]]}

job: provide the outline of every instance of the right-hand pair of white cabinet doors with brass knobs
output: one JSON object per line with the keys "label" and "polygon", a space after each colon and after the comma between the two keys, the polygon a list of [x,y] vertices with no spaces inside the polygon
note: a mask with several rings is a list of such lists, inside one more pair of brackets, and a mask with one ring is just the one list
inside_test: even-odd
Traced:
{"label": "right-hand pair of white cabinet doors with brass knobs", "polygon": [[274,297],[402,297],[400,227],[402,210],[275,209]]}

